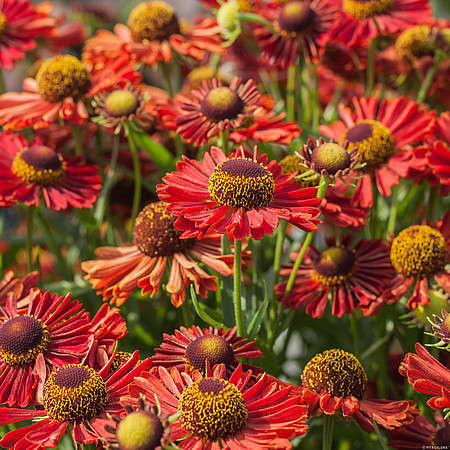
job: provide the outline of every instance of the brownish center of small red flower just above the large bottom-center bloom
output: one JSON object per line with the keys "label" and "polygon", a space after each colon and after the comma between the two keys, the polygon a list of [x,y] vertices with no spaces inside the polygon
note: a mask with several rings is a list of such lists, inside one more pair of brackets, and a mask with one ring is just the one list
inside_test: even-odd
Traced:
{"label": "brownish center of small red flower just above the large bottom-center bloom", "polygon": [[208,334],[200,336],[189,343],[186,349],[186,360],[194,369],[205,370],[205,360],[211,366],[225,364],[228,366],[234,361],[233,349],[222,336]]}

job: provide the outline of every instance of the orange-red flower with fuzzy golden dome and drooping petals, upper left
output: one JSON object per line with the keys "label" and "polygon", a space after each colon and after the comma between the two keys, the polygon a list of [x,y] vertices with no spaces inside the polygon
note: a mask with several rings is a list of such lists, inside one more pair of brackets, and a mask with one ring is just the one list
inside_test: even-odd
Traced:
{"label": "orange-red flower with fuzzy golden dome and drooping petals, upper left", "polygon": [[89,117],[84,99],[140,80],[125,56],[91,76],[75,56],[57,55],[41,64],[35,79],[24,80],[23,92],[0,95],[0,125],[11,130],[39,129],[58,120],[81,125]]}

